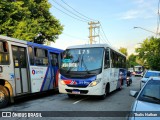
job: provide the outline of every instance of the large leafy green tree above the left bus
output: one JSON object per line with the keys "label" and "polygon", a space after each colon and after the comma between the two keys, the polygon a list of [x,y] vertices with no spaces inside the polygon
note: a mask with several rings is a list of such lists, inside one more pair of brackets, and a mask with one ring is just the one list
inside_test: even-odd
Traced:
{"label": "large leafy green tree above the left bus", "polygon": [[51,15],[50,7],[48,0],[1,0],[0,34],[38,43],[54,42],[63,26]]}

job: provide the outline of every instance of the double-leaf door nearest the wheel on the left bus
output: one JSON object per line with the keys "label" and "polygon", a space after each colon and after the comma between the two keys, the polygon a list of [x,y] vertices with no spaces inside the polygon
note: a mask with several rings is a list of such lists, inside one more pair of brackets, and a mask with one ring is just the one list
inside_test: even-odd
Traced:
{"label": "double-leaf door nearest the wheel on the left bus", "polygon": [[29,92],[25,47],[12,46],[16,94]]}

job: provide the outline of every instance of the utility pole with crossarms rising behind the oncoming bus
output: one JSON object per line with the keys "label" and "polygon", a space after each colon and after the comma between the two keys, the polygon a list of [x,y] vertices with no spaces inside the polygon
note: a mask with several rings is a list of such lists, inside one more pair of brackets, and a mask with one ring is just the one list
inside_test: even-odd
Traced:
{"label": "utility pole with crossarms rising behind the oncoming bus", "polygon": [[100,23],[99,23],[99,21],[98,22],[93,22],[93,21],[91,21],[91,22],[89,22],[88,23],[88,25],[90,25],[89,26],[89,39],[90,39],[90,44],[92,44],[93,43],[93,41],[94,42],[96,42],[95,41],[95,37],[99,37],[99,31],[98,31],[98,34],[96,33],[96,28],[98,28],[99,29],[99,25]]}

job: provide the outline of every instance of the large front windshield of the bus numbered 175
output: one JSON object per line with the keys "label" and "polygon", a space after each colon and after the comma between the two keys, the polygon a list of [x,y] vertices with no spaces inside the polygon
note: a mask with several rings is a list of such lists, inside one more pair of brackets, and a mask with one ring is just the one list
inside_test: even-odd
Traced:
{"label": "large front windshield of the bus numbered 175", "polygon": [[67,49],[63,54],[61,70],[91,71],[102,67],[104,48]]}

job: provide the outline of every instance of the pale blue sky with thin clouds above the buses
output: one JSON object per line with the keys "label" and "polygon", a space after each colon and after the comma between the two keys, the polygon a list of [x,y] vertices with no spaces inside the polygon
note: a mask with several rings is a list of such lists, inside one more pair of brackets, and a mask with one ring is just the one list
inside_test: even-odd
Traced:
{"label": "pale blue sky with thin clouds above the buses", "polygon": [[[71,45],[88,44],[88,22],[93,19],[99,21],[102,26],[100,43],[106,41],[105,43],[117,49],[120,47],[127,48],[128,54],[134,53],[135,47],[143,40],[156,36],[146,30],[157,32],[158,1],[49,0],[52,5],[51,14],[64,26],[63,33],[51,46],[66,49]],[[68,5],[83,16],[80,16]],[[81,18],[75,19],[77,16],[80,16],[83,20],[90,19],[84,22],[81,21]],[[134,29],[134,27],[140,28]],[[96,40],[98,43],[99,39],[96,38]]]}

